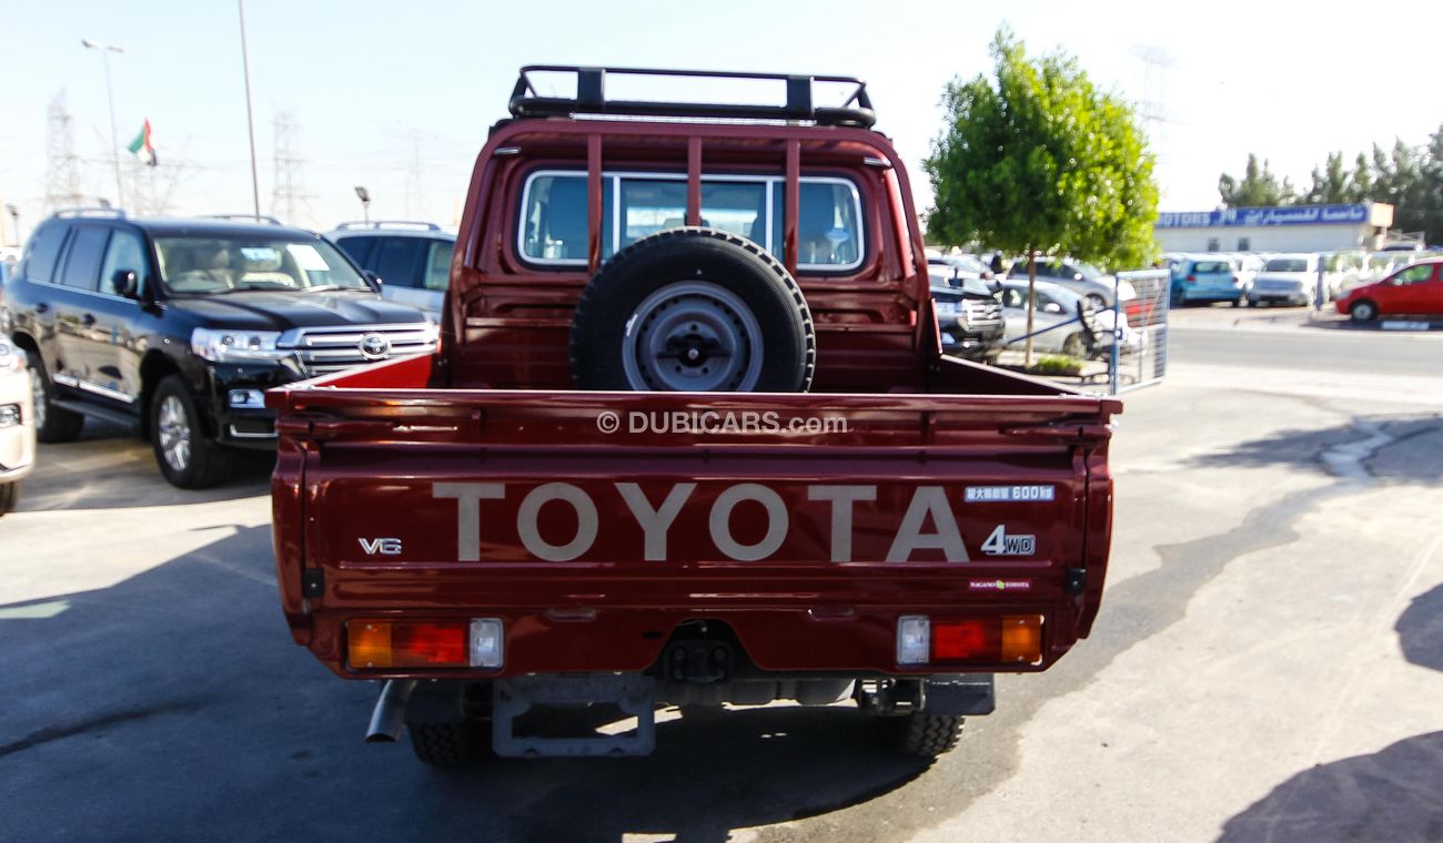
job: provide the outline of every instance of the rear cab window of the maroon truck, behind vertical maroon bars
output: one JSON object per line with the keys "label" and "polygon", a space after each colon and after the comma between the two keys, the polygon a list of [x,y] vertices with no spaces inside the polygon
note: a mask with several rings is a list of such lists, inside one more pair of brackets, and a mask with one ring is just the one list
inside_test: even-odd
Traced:
{"label": "rear cab window of the maroon truck, behind vertical maroon bars", "polygon": [[[781,176],[703,176],[701,225],[782,252],[785,180]],[[675,173],[602,174],[602,258],[687,218],[687,180]],[[866,254],[861,197],[843,177],[802,176],[798,269],[846,271]],[[586,174],[538,170],[521,192],[517,251],[531,264],[586,264]]]}

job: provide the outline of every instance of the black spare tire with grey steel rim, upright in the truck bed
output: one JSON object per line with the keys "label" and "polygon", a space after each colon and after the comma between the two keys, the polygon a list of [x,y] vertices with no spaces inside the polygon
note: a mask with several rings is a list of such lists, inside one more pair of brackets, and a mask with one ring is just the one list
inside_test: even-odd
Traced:
{"label": "black spare tire with grey steel rim, upright in the truck bed", "polygon": [[801,288],[746,238],[674,228],[592,278],[571,321],[580,389],[807,392],[817,334]]}

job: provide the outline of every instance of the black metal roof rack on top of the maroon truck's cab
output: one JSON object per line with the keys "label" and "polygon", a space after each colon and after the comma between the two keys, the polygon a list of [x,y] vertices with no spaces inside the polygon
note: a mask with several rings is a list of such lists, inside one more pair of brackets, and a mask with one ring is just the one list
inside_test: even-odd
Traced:
{"label": "black metal roof rack on top of the maroon truck's cab", "polygon": [[[531,84],[531,73],[576,73],[576,97],[543,97]],[[608,99],[606,76],[681,76],[701,79],[772,79],[786,84],[786,105],[664,102],[644,99]],[[815,82],[856,85],[840,107],[812,101]],[[521,68],[511,91],[512,117],[569,117],[576,114],[613,114],[631,117],[693,117],[734,120],[810,120],[818,125],[856,125],[872,128],[877,121],[867,98],[867,84],[851,76],[798,76],[788,73],[742,73],[726,71],[661,71],[644,68],[579,68],[571,65],[527,65]]]}

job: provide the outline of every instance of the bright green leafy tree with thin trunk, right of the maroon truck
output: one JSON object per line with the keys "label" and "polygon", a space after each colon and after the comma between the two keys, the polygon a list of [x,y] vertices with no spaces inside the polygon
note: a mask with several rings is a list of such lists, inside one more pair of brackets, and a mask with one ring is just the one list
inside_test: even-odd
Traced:
{"label": "bright green leafy tree with thin trunk, right of the maroon truck", "polygon": [[[1152,257],[1157,186],[1131,107],[1100,91],[1065,53],[1029,58],[1001,27],[993,76],[948,82],[947,124],[924,161],[934,242],[984,242],[1027,255],[1027,333],[1039,252],[1107,265]],[[1032,340],[1026,343],[1032,365]]]}

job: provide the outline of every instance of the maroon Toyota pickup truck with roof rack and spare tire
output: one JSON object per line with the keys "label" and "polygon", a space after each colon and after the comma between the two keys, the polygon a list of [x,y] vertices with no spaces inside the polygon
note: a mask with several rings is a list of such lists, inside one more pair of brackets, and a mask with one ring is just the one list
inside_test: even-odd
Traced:
{"label": "maroon Toyota pickup truck with roof rack and spare tire", "polygon": [[291,634],[382,682],[369,739],[443,767],[775,700],[944,752],[996,673],[1088,634],[1121,405],[941,353],[860,82],[606,89],[657,73],[522,69],[440,349],[268,393]]}

